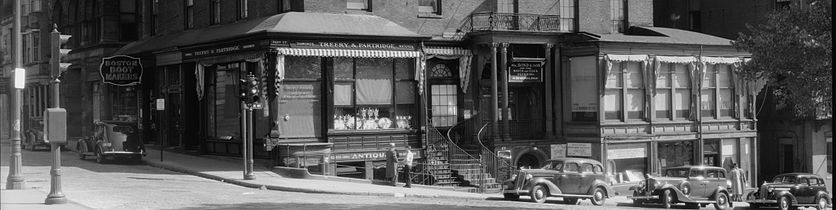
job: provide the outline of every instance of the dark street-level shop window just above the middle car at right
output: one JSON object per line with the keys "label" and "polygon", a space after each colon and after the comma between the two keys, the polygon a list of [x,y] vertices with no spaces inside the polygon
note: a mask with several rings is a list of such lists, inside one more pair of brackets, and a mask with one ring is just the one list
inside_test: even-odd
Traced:
{"label": "dark street-level shop window just above the middle car at right", "polygon": [[660,168],[694,165],[696,141],[659,142]]}

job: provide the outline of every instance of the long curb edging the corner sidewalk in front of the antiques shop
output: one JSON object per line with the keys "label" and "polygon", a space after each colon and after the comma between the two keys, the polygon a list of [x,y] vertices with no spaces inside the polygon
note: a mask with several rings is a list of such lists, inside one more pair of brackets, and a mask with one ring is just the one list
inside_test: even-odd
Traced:
{"label": "long curb edging the corner sidewalk in front of the antiques shop", "polygon": [[[144,161],[144,160],[143,160]],[[365,195],[365,196],[385,196],[385,197],[412,197],[412,198],[448,198],[448,199],[465,199],[465,200],[485,200],[486,198],[474,198],[474,197],[467,197],[467,196],[453,196],[453,195],[422,195],[422,194],[411,194],[411,193],[376,193],[376,192],[337,192],[337,191],[327,191],[327,190],[316,190],[316,189],[308,189],[308,188],[295,188],[295,187],[286,187],[286,186],[276,186],[276,185],[262,185],[262,184],[255,184],[250,183],[247,181],[242,180],[230,180],[224,177],[211,175],[202,173],[199,171],[194,171],[190,169],[186,169],[185,167],[178,167],[173,166],[165,163],[157,163],[157,162],[149,162],[144,161],[149,166],[162,168],[170,171],[191,174],[207,179],[212,179],[224,183],[230,183],[234,185],[239,185],[242,187],[249,187],[249,188],[256,188],[256,189],[268,189],[268,190],[277,190],[277,191],[286,191],[286,192],[300,192],[300,193],[320,193],[320,194],[337,194],[337,195]],[[322,180],[334,180],[334,179],[322,179]]]}

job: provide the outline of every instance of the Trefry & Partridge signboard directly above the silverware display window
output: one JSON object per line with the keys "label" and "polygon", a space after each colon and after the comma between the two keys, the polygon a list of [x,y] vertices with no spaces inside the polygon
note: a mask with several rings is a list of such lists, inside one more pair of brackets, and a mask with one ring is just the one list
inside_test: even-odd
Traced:
{"label": "Trefry & Partridge signboard directly above the silverware display window", "polygon": [[329,42],[329,41],[292,41],[291,48],[351,49],[351,50],[403,50],[414,51],[414,44],[395,44],[383,42]]}

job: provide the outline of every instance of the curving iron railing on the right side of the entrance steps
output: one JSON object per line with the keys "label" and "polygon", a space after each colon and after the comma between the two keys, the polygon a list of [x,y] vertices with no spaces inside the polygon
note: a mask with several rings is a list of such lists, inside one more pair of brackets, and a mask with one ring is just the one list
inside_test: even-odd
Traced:
{"label": "curving iron railing on the right side of the entrance steps", "polygon": [[[511,177],[511,174],[515,172],[513,165],[508,162],[505,158],[499,157],[494,150],[491,150],[488,145],[485,145],[485,139],[491,139],[491,129],[492,123],[485,123],[482,128],[479,128],[479,132],[477,134],[477,138],[479,140],[479,145],[482,146],[482,155],[481,155],[481,162],[485,165],[485,171],[494,178],[496,178],[497,182],[501,183],[506,179]],[[491,141],[491,147],[493,147],[493,141]]]}

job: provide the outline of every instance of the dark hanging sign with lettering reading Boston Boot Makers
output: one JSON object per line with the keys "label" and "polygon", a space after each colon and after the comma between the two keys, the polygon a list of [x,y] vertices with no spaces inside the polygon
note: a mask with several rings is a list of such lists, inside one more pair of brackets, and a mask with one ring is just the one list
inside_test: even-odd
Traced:
{"label": "dark hanging sign with lettering reading Boston Boot Makers", "polygon": [[116,55],[102,59],[99,67],[102,81],[112,85],[128,86],[139,84],[142,79],[142,63],[139,58]]}

